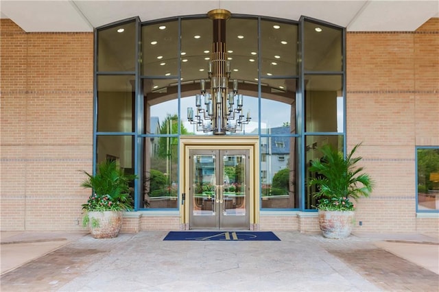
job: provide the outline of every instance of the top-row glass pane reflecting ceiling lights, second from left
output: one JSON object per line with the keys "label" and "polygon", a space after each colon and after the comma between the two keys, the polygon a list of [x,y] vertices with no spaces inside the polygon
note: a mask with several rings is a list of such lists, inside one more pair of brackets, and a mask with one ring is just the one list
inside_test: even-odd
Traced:
{"label": "top-row glass pane reflecting ceiling lights, second from left", "polygon": [[142,74],[176,76],[178,74],[178,21],[154,23],[142,27]]}

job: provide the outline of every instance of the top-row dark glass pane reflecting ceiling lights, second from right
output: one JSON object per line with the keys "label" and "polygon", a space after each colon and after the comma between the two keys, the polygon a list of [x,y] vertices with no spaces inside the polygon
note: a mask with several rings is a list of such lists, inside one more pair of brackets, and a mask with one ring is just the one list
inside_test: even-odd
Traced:
{"label": "top-row dark glass pane reflecting ceiling lights, second from right", "polygon": [[261,21],[262,75],[297,75],[297,27]]}

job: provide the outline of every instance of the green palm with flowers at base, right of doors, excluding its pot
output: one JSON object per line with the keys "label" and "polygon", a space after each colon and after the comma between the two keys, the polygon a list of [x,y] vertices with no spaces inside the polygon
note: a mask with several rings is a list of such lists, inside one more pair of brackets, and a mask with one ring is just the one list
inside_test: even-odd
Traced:
{"label": "green palm with flowers at base, right of doors, excluding its pot", "polygon": [[349,198],[368,197],[372,192],[375,182],[367,173],[362,173],[364,167],[357,166],[363,158],[354,157],[360,145],[355,145],[344,158],[342,151],[325,144],[320,147],[322,158],[311,161],[309,170],[317,175],[309,185],[317,186],[313,196],[318,199],[319,210],[355,210]]}

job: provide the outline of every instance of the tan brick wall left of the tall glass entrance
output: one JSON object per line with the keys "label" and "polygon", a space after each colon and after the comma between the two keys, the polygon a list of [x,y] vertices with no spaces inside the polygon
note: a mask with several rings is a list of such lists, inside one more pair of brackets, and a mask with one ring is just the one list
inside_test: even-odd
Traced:
{"label": "tan brick wall left of the tall glass entrance", "polygon": [[82,230],[93,33],[25,33],[0,21],[1,230]]}

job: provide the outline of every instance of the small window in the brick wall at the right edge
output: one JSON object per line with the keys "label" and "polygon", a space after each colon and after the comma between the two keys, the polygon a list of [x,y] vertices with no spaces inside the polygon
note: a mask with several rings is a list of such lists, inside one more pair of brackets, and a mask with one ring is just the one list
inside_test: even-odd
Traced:
{"label": "small window in the brick wall at the right edge", "polygon": [[416,149],[418,212],[439,211],[439,147]]}

